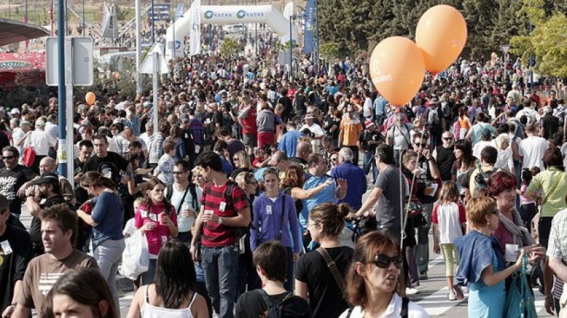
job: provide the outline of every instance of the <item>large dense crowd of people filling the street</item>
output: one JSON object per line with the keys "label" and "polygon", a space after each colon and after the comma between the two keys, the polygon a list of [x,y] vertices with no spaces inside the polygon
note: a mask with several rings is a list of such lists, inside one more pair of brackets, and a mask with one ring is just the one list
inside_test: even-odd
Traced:
{"label": "large dense crowd of people filling the street", "polygon": [[367,62],[177,58],[155,106],[76,99],[68,178],[57,99],[1,108],[2,317],[119,317],[125,236],[146,264],[127,317],[428,317],[407,295],[430,247],[471,317],[503,317],[524,260],[559,313],[562,82],[459,60],[396,107]]}

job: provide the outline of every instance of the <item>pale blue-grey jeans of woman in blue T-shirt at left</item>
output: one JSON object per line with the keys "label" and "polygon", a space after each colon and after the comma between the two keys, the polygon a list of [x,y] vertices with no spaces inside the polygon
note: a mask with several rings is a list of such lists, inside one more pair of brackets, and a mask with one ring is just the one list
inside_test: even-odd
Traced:
{"label": "pale blue-grey jeans of woman in blue T-shirt at left", "polygon": [[95,258],[102,277],[109,283],[112,297],[116,308],[120,308],[118,302],[118,289],[116,289],[116,272],[118,271],[118,263],[122,259],[124,251],[124,238],[113,241],[106,240],[94,249],[93,257]]}

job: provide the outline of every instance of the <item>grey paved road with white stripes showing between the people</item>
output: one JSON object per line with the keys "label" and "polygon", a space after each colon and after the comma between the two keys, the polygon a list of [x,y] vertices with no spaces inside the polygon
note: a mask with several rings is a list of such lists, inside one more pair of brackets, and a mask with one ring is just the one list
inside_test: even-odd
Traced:
{"label": "grey paved road with white stripes showing between the people", "polygon": [[[29,227],[31,216],[23,209],[22,222],[26,227]],[[433,241],[430,234],[430,241]],[[445,262],[443,256],[433,254],[430,250],[432,259],[430,260],[429,279],[420,282],[417,287],[419,293],[410,295],[412,301],[417,302],[431,317],[467,317],[467,293],[465,289],[465,299],[461,301],[449,301],[447,298],[447,283],[445,280]],[[129,286],[126,286],[128,281],[125,278],[118,278],[121,282],[121,297],[120,297],[120,313],[122,317],[126,317],[128,308],[133,297],[133,291]],[[131,286],[131,285],[130,285]],[[536,296],[536,310],[538,317],[552,317],[548,315],[544,308],[544,297],[542,294],[534,289]]]}

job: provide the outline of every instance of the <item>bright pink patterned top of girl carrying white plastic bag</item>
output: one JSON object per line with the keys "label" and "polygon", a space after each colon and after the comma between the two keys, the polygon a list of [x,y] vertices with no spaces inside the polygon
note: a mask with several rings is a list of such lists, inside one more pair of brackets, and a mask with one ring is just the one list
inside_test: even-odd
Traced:
{"label": "bright pink patterned top of girl carrying white plastic bag", "polygon": [[[170,219],[173,224],[177,227],[177,214],[175,213],[175,208],[171,207]],[[164,212],[164,204],[159,204],[157,206],[152,206],[150,213],[146,209],[146,206],[140,206],[136,209],[134,215],[134,226],[136,228],[142,228],[142,226],[148,222],[156,222],[158,225],[153,228],[153,230],[146,232],[146,239],[148,240],[148,250],[150,254],[157,255],[159,249],[171,240],[171,234],[167,225],[159,225],[159,213]]]}

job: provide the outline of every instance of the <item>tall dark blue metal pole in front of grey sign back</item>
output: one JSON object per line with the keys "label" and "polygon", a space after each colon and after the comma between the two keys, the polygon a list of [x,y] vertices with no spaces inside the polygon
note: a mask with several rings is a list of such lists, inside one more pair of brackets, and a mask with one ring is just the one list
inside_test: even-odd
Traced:
{"label": "tall dark blue metal pole in front of grey sign back", "polygon": [[[57,103],[57,114],[58,114],[58,133],[59,133],[59,146],[58,151],[61,153],[63,149],[67,146],[67,132],[65,131],[65,126],[67,123],[66,116],[66,90],[65,90],[65,2],[64,0],[59,0],[58,3],[58,14],[57,14],[57,60],[58,60],[58,103]],[[70,56],[69,56],[70,58]],[[61,159],[61,158],[60,158]],[[58,171],[63,177],[67,177],[67,158],[65,160],[60,160]]]}

